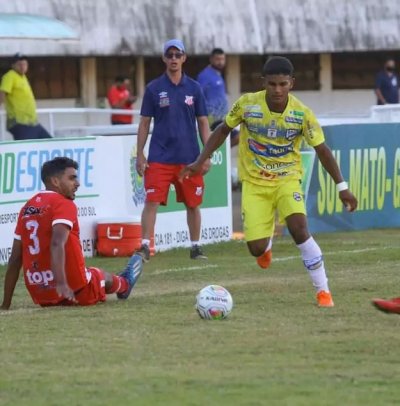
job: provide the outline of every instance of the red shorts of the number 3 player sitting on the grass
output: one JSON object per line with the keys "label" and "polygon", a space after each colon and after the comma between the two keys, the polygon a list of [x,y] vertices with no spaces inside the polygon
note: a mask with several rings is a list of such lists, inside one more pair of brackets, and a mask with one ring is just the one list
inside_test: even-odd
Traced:
{"label": "red shorts of the number 3 player sitting on the grass", "polygon": [[91,273],[90,282],[75,292],[76,303],[71,302],[68,299],[64,299],[58,303],[41,304],[43,307],[47,306],[90,306],[99,302],[105,302],[106,300],[106,282],[104,279],[104,272],[99,268],[87,268],[87,271]]}

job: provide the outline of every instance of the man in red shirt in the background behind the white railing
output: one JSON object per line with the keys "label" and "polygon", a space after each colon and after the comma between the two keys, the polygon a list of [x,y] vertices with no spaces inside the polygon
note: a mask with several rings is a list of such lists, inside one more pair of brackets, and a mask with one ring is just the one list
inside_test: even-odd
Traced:
{"label": "man in red shirt in the background behind the white railing", "polygon": [[[107,94],[108,103],[113,109],[132,110],[136,97],[129,91],[130,80],[125,76],[117,76],[114,85]],[[132,124],[132,114],[112,114],[111,124]]]}

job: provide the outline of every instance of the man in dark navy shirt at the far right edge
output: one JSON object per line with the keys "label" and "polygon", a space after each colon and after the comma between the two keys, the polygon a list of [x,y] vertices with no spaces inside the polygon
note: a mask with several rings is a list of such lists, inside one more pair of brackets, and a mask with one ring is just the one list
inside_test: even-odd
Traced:
{"label": "man in dark navy shirt at the far right edge", "polygon": [[399,77],[396,74],[396,64],[391,58],[386,59],[384,68],[376,75],[375,93],[377,104],[396,104],[399,102]]}

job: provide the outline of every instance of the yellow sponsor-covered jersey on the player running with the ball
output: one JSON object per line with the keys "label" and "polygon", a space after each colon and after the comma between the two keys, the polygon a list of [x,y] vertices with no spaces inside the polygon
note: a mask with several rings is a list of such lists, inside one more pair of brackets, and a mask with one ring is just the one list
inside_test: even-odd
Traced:
{"label": "yellow sponsor-covered jersey on the player running with the ball", "polygon": [[269,110],[265,90],[244,94],[225,121],[232,128],[240,124],[239,178],[258,185],[300,180],[302,141],[312,147],[325,141],[314,113],[291,94],[283,113]]}

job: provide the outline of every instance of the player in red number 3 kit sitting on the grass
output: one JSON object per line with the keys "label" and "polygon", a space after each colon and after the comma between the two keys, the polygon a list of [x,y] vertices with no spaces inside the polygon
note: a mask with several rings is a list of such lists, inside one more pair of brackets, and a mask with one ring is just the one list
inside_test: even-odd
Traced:
{"label": "player in red number 3 kit sitting on the grass", "polygon": [[126,299],[142,272],[142,258],[133,255],[118,275],[86,268],[79,240],[77,207],[78,164],[65,157],[42,167],[46,190],[22,207],[4,282],[2,310],[11,305],[21,267],[34,303],[41,306],[104,302],[106,294]]}

